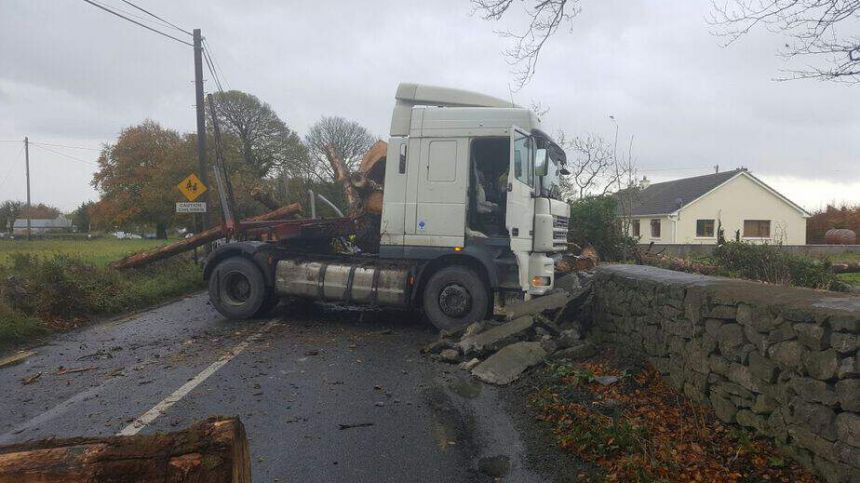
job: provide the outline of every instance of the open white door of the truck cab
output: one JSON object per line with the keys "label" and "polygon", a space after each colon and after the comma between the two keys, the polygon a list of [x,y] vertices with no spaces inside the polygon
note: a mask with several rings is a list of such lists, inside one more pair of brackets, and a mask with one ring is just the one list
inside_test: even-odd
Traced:
{"label": "open white door of the truck cab", "polygon": [[534,222],[534,140],[516,126],[511,129],[511,165],[505,226],[511,236],[511,251],[527,254],[532,249]]}

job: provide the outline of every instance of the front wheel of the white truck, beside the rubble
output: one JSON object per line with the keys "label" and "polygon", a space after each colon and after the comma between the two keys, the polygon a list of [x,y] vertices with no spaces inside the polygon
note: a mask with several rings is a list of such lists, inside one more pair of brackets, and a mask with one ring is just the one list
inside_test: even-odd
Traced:
{"label": "front wheel of the white truck, beside the rubble", "polygon": [[439,330],[454,330],[487,316],[487,284],[473,270],[450,266],[434,273],[422,296],[424,314]]}

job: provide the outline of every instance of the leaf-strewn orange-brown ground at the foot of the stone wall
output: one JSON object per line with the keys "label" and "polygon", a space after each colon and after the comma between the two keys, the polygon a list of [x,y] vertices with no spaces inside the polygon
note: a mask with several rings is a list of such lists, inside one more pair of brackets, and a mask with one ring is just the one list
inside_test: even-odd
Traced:
{"label": "leaf-strewn orange-brown ground at the foot of the stone wall", "polygon": [[815,481],[611,348],[540,367],[507,393],[529,464],[556,481]]}

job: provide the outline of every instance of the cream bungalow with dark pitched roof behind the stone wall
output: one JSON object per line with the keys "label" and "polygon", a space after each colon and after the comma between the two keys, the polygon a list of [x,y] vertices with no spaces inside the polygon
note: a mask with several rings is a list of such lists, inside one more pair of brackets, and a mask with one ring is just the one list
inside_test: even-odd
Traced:
{"label": "cream bungalow with dark pitched roof behind the stone wall", "polygon": [[806,244],[803,208],[746,169],[655,183],[618,194],[639,243],[712,244],[727,240]]}

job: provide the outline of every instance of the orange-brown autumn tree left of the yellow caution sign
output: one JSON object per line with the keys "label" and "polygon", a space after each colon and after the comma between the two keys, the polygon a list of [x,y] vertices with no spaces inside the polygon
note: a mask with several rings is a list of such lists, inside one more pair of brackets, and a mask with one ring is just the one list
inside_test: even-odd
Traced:
{"label": "orange-brown autumn tree left of the yellow caution sign", "polygon": [[93,221],[102,227],[154,226],[167,237],[174,220],[176,185],[196,170],[196,159],[183,149],[176,131],[154,121],[124,129],[113,145],[102,149],[92,185],[101,199]]}

